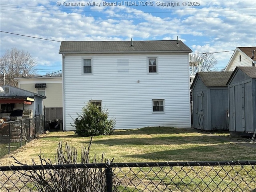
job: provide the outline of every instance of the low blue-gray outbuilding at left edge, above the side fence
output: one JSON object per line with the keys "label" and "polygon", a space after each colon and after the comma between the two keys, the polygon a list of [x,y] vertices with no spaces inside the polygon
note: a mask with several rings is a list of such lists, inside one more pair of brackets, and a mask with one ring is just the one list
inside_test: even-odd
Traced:
{"label": "low blue-gray outbuilding at left edge, above the side fence", "polygon": [[10,116],[14,110],[31,110],[33,116],[43,113],[43,99],[45,96],[10,85],[2,86],[4,92],[0,93],[1,118]]}

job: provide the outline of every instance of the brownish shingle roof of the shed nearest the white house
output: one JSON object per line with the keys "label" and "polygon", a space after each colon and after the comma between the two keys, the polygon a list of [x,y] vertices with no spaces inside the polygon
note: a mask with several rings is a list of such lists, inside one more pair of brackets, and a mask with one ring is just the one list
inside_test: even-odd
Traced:
{"label": "brownish shingle roof of the shed nearest the white house", "polygon": [[232,71],[197,72],[190,89],[194,88],[199,76],[206,87],[226,87],[231,74]]}

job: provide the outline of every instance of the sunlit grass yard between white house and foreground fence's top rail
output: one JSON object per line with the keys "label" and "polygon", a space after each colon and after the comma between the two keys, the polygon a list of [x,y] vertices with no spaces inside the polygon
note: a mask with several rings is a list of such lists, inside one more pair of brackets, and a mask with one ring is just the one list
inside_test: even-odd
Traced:
{"label": "sunlit grass yard between white house and foreground fence's top rail", "polygon": [[[227,133],[206,134],[193,129],[146,127],[137,130],[115,130],[113,135],[92,138],[91,155],[105,154],[114,162],[173,162],[173,161],[220,161],[256,160],[256,148],[222,140],[218,136]],[[73,131],[50,132],[32,140],[13,155],[30,164],[37,160],[40,151],[45,158],[55,160],[58,142],[69,142],[80,152],[87,146],[90,137],[79,137]],[[9,155],[10,156],[10,155]],[[1,159],[2,165],[10,165],[12,158]]]}

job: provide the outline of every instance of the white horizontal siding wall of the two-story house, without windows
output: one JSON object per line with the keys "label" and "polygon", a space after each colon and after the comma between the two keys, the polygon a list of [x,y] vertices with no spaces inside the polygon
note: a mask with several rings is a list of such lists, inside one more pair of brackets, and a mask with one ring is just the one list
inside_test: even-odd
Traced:
{"label": "white horizontal siding wall of the two-story house, without windows", "polygon": [[[158,74],[147,73],[148,56],[158,57]],[[92,58],[93,74],[82,74],[83,57]],[[118,72],[120,59],[128,61],[128,73]],[[152,99],[164,99],[164,113],[152,112]],[[72,118],[90,100],[102,100],[116,129],[190,127],[188,54],[65,54],[65,130],[75,129]]]}

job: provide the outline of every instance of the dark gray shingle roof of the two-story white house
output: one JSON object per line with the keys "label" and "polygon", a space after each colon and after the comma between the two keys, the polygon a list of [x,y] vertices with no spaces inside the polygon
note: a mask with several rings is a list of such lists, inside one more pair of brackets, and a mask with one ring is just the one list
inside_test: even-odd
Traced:
{"label": "dark gray shingle roof of the two-story white house", "polygon": [[192,52],[182,41],[62,41],[60,54],[77,52]]}

